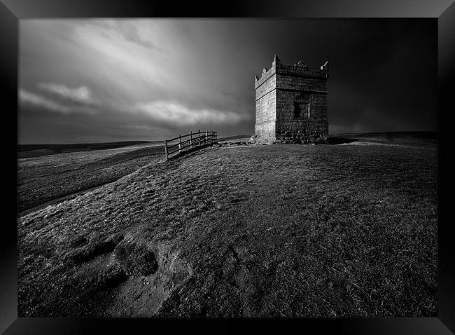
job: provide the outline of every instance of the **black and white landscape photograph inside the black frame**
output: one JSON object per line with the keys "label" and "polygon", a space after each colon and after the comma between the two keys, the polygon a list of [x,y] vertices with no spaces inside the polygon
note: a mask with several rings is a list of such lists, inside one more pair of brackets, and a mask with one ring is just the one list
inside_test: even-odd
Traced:
{"label": "black and white landscape photograph inside the black frame", "polygon": [[438,46],[432,18],[18,20],[18,317],[438,317]]}

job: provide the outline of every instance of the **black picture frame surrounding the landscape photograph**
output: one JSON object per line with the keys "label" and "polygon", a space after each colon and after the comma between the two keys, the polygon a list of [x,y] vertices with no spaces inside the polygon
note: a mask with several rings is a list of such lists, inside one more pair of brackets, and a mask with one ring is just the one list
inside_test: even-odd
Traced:
{"label": "black picture frame surrounding the landscape photograph", "polygon": [[[26,18],[433,18],[437,23],[437,197],[438,197],[438,274],[437,317],[391,318],[300,318],[300,319],[108,319],[108,318],[25,318],[17,315],[17,198],[7,196],[5,211],[13,219],[3,219],[1,235],[0,275],[0,331],[4,334],[117,334],[173,331],[177,325],[193,331],[237,331],[237,324],[251,323],[253,327],[284,331],[317,329],[345,334],[453,334],[455,332],[455,258],[454,235],[451,234],[451,193],[454,190],[454,149],[451,147],[454,121],[454,60],[455,60],[455,4],[453,0],[438,1],[372,1],[372,0],[311,0],[311,1],[225,1],[211,4],[175,1],[90,1],[90,0],[0,0],[0,89],[3,110],[10,113],[18,108],[18,29],[19,21]],[[419,57],[419,55],[416,55]],[[18,109],[16,109],[18,111]],[[19,111],[18,111],[19,113]],[[18,114],[19,115],[19,114]],[[11,119],[13,120],[13,118]],[[14,122],[14,121],[10,121]],[[18,122],[18,119],[16,119]],[[3,143],[11,142],[13,127],[3,126]],[[13,146],[11,145],[11,148]],[[17,149],[17,147],[16,147]],[[13,149],[13,152],[17,151]],[[13,160],[13,154],[8,161]],[[17,173],[17,165],[8,165]],[[5,179],[9,170],[5,170]],[[13,194],[4,190],[3,194]],[[17,212],[16,212],[17,214]],[[214,321],[218,325],[204,324]],[[230,326],[233,322],[234,326]],[[215,328],[214,328],[215,327]],[[256,331],[258,329],[255,329]],[[185,330],[184,330],[185,331]],[[314,334],[311,331],[311,334]]]}

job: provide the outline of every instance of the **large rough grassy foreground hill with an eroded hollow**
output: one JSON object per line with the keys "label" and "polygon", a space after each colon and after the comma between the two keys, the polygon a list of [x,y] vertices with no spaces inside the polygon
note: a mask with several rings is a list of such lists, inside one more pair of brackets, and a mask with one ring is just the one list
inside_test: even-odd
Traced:
{"label": "large rough grassy foreground hill with an eroded hollow", "polygon": [[19,316],[435,316],[436,154],[158,158],[18,219]]}

